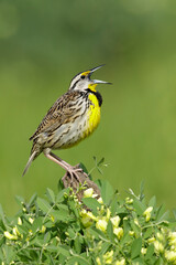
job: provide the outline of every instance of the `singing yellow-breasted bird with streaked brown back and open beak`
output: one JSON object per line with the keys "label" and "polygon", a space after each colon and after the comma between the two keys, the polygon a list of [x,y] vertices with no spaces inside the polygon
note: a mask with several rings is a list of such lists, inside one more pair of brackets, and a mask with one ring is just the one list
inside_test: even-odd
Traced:
{"label": "singing yellow-breasted bird with streaked brown back and open beak", "polygon": [[70,148],[87,138],[100,123],[102,96],[96,89],[98,84],[111,84],[106,81],[91,80],[95,71],[103,65],[78,73],[70,82],[68,91],[48,109],[35,132],[31,156],[23,171],[24,176],[33,160],[40,153],[64,168],[70,176],[79,179],[80,168],[67,163],[52,150]]}

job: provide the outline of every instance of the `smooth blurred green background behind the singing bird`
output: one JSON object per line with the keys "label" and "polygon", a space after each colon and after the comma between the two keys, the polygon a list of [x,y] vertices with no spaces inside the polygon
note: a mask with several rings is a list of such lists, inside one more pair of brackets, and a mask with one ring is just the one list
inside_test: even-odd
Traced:
{"label": "smooth blurred green background behind the singing bird", "polygon": [[56,151],[101,177],[122,195],[145,193],[175,206],[176,1],[0,1],[0,203],[8,214],[15,194],[56,191],[64,170],[41,155],[28,174],[34,132],[46,110],[80,71],[106,63],[95,78],[103,96],[97,131],[73,149]]}

